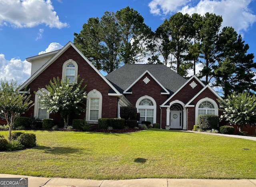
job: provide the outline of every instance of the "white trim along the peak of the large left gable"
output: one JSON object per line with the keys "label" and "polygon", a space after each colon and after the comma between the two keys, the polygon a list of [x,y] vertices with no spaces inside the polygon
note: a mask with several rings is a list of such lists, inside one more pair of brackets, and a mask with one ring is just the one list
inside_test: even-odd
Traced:
{"label": "white trim along the peak of the large left gable", "polygon": [[[50,59],[48,60],[48,62],[46,62],[44,64],[44,66],[42,66],[36,73],[34,73],[28,80],[26,80],[26,82],[24,82],[21,86],[19,90],[24,89],[26,86],[28,86],[28,84],[30,84],[35,78],[37,78],[42,72],[44,72],[44,70],[46,70],[46,68],[48,68],[55,60],[57,60],[70,46],[72,46],[76,52],[78,52],[78,54],[80,54],[80,56],[82,56],[82,58],[84,58],[84,60],[95,70],[95,72],[97,72],[97,74],[110,86],[110,88],[112,88],[116,94],[111,94],[111,96],[121,96],[122,94],[120,94],[120,92],[118,92],[118,90],[116,90],[116,88],[97,70],[97,68],[82,54],[82,52],[80,52],[80,50],[78,50],[78,48],[76,48],[76,46],[72,43],[72,42],[68,42],[62,49],[58,50],[58,52]],[[44,55],[44,54],[42,54]],[[36,57],[36,56],[35,56]],[[38,56],[37,56],[38,57]],[[32,58],[32,57],[31,57]],[[28,58],[29,59],[29,58]]]}

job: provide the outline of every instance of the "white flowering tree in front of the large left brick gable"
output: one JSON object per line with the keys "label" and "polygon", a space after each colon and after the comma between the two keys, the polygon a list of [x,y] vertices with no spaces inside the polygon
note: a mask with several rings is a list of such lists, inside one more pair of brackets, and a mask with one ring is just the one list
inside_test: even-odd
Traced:
{"label": "white flowering tree in front of the large left brick gable", "polygon": [[64,119],[64,128],[68,126],[71,113],[80,115],[85,111],[83,101],[86,99],[86,85],[82,86],[84,80],[76,83],[77,80],[70,84],[69,79],[53,78],[53,82],[50,80],[50,84],[46,86],[48,92],[42,89],[39,89],[42,94],[35,92],[48,112],[60,113]]}

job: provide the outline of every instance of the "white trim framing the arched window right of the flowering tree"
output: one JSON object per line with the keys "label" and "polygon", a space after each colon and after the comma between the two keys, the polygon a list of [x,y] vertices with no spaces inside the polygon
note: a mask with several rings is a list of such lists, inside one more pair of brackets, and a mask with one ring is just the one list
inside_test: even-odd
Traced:
{"label": "white trim framing the arched window right of the flowering tree", "polygon": [[87,101],[86,101],[86,121],[88,122],[98,122],[98,120],[90,120],[90,99],[91,98],[99,98],[99,114],[98,114],[98,119],[102,117],[102,94],[94,89],[90,91],[87,94]]}

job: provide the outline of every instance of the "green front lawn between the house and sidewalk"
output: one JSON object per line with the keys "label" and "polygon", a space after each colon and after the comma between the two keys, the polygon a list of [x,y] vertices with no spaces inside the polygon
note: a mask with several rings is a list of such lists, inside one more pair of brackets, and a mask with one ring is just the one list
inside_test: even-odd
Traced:
{"label": "green front lawn between the house and sidewalk", "polygon": [[[256,142],[148,129],[134,133],[25,131],[39,146],[0,152],[0,173],[80,179],[256,179]],[[8,136],[7,131],[0,134]]]}

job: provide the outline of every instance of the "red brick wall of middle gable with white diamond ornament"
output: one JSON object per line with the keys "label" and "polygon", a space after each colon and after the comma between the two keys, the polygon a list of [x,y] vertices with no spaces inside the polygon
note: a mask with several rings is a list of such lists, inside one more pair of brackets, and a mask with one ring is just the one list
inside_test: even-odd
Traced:
{"label": "red brick wall of middle gable with white diamond ornament", "polygon": [[[150,79],[148,84],[143,82],[145,77]],[[127,94],[126,98],[133,106],[136,106],[136,101],[144,95],[154,98],[156,101],[156,123],[160,123],[161,111],[159,106],[167,99],[166,95],[161,95],[162,87],[148,73],[146,73],[140,80],[138,80],[138,82],[136,82],[136,84],[134,84],[134,86],[132,86],[131,89],[132,94]]]}

